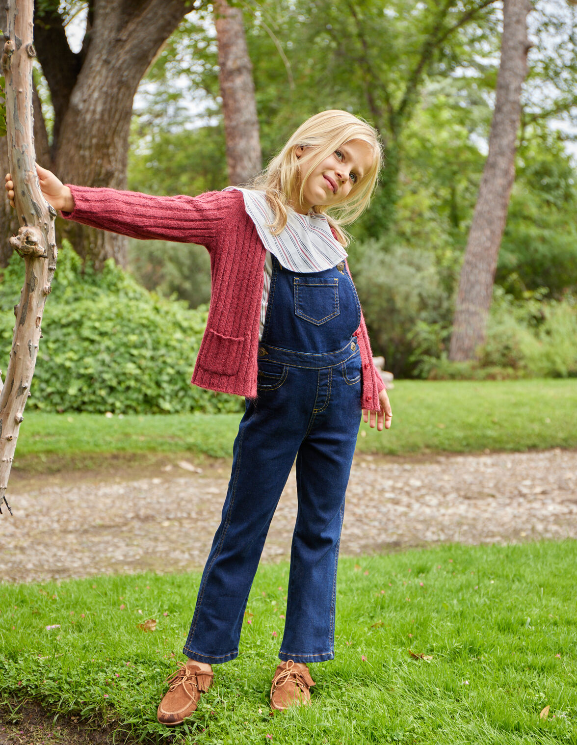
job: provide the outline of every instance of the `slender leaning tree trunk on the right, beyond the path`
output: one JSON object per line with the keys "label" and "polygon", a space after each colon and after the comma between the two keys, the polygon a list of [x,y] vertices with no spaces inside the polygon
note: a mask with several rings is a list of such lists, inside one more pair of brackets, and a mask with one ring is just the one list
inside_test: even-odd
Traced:
{"label": "slender leaning tree trunk on the right, beyond the path", "polygon": [[479,186],[473,222],[459,282],[450,359],[474,358],[485,331],[497,257],[515,176],[515,150],[520,121],[520,95],[527,74],[529,0],[504,0],[501,61],[489,152]]}

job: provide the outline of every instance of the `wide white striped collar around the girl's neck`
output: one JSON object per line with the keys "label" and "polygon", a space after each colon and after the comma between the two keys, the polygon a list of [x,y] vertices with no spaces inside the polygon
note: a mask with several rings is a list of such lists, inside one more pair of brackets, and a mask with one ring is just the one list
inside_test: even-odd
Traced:
{"label": "wide white striped collar around the girl's neck", "polygon": [[258,237],[285,269],[306,274],[322,272],[348,256],[325,215],[299,215],[289,209],[287,225],[278,235],[272,235],[267,223],[272,223],[274,215],[264,191],[237,186],[227,186],[224,191],[231,189],[242,191],[246,214],[255,223]]}

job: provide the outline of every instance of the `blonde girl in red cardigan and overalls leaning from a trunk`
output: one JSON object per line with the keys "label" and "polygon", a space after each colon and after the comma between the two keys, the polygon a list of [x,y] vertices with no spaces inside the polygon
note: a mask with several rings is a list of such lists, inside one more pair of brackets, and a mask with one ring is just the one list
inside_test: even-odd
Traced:
{"label": "blonde girl in red cardigan and overalls leaning from a trunk", "polygon": [[[151,197],[64,186],[38,167],[46,200],[65,218],[208,249],[211,304],[192,382],[246,398],[188,662],[158,708],[167,725],[197,708],[211,665],[238,655],[252,580],[295,457],[299,510],[272,708],[308,703],[307,663],[334,658],[337,557],[360,412],[379,431],[392,416],[341,227],[366,209],[380,165],[375,130],[331,110],[305,121],[249,188]],[[13,200],[10,174],[6,181]]]}

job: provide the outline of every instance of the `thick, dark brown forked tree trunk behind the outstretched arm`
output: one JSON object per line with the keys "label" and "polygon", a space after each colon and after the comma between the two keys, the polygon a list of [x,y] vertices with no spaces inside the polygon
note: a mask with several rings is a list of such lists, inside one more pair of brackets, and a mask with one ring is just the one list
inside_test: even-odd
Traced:
{"label": "thick, dark brown forked tree trunk behind the outstretched arm", "polygon": [[[54,105],[52,162],[65,183],[125,188],[133,98],[188,0],[90,0],[80,52],[68,46],[58,4],[36,10],[35,40]],[[76,223],[63,234],[95,267],[126,263],[127,238]]]}

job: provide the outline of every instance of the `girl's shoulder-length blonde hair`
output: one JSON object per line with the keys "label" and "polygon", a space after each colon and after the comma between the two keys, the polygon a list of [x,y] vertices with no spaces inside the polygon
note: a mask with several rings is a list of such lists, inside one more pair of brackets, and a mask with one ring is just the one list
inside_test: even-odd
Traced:
{"label": "girl's shoulder-length blonde hair", "polygon": [[[355,139],[363,140],[372,148],[371,168],[353,185],[341,202],[331,206],[316,205],[312,208],[312,212],[326,216],[329,225],[337,233],[339,243],[343,246],[348,245],[349,237],[340,226],[356,220],[369,206],[377,185],[383,152],[374,127],[348,111],[338,109],[322,111],[307,119],[290,137],[280,153],[272,158],[267,168],[246,185],[246,188],[266,191],[267,201],[275,216],[270,225],[272,235],[278,235],[287,224],[287,207],[290,206],[290,201],[302,203],[306,180],[317,165],[334,153],[334,150]],[[299,145],[303,148],[313,148],[305,161],[308,167],[302,177],[299,171],[301,164],[296,156]]]}

